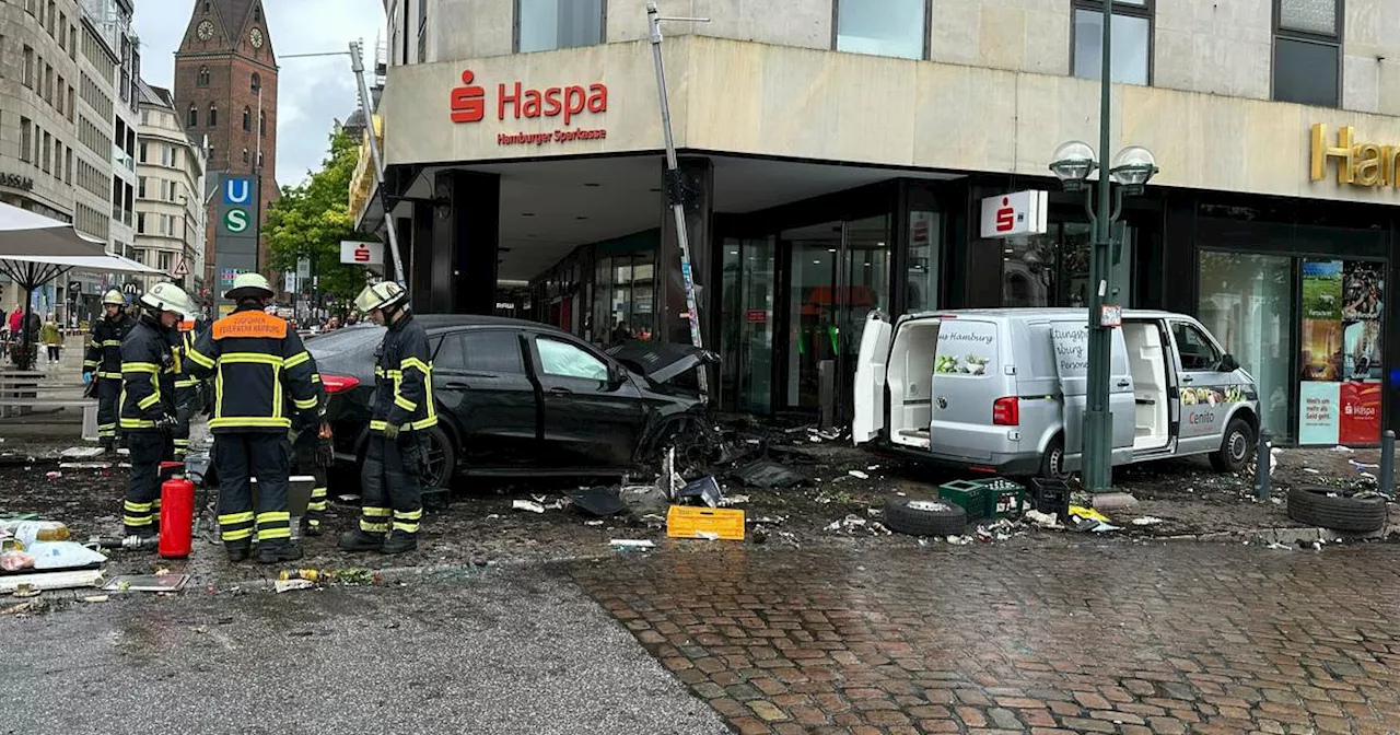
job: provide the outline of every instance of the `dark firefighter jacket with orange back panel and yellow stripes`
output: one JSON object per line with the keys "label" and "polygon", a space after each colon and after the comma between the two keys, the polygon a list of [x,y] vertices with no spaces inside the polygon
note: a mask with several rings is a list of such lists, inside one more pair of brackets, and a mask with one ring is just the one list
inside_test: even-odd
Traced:
{"label": "dark firefighter jacket with orange back panel and yellow stripes", "polygon": [[214,434],[291,428],[287,400],[302,426],[316,423],[314,363],[284,319],[245,305],[214,322],[189,350],[196,378],[214,377]]}

